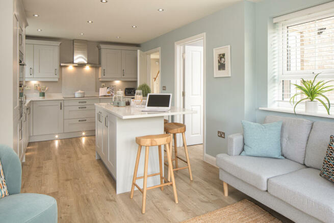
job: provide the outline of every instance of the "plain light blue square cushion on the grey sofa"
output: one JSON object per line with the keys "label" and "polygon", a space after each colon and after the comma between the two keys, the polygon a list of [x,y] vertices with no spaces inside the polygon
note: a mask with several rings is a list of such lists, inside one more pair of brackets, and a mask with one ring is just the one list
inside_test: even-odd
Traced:
{"label": "plain light blue square cushion on the grey sofa", "polygon": [[284,159],[280,149],[282,121],[263,125],[244,120],[241,123],[245,142],[241,155]]}

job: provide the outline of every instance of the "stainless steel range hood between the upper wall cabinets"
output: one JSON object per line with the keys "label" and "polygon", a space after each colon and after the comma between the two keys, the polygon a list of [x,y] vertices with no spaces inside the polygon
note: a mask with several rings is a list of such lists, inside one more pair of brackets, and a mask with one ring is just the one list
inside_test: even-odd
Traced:
{"label": "stainless steel range hood between the upper wall cabinets", "polygon": [[99,67],[99,64],[89,63],[87,61],[88,49],[87,40],[73,40],[73,61],[68,63],[61,63],[61,66],[89,66]]}

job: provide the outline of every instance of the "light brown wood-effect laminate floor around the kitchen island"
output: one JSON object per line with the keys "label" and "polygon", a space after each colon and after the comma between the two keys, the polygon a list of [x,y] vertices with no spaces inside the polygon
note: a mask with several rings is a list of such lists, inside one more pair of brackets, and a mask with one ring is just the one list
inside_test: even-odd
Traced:
{"label": "light brown wood-effect laminate floor around the kitchen island", "polygon": [[[115,181],[102,161],[95,160],[94,136],[29,143],[21,192],[55,197],[59,222],[179,222],[243,199],[254,202],[230,186],[229,196],[224,197],[218,168],[202,161],[202,145],[188,149],[193,182],[187,169],[176,171],[179,203],[174,203],[172,187],[152,189],[147,192],[145,214],[141,213],[140,191],[135,191],[134,199],[130,199],[130,192],[116,195]],[[183,147],[178,153],[184,157]]]}

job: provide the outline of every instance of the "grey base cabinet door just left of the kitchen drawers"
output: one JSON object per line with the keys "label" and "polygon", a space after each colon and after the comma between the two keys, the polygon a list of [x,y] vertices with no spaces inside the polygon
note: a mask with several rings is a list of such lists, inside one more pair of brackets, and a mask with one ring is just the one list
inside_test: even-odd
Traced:
{"label": "grey base cabinet door just left of the kitchen drawers", "polygon": [[35,101],[33,135],[63,133],[63,101]]}

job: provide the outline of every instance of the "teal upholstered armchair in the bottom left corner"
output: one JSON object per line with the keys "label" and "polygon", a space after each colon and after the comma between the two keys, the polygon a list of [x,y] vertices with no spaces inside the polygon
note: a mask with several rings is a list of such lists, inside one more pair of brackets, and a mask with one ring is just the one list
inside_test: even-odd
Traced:
{"label": "teal upholstered armchair in the bottom left corner", "polygon": [[52,196],[39,193],[20,193],[21,162],[12,148],[0,145],[9,196],[0,199],[1,222],[55,223],[58,221],[57,201]]}

